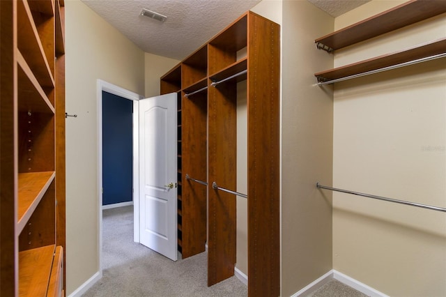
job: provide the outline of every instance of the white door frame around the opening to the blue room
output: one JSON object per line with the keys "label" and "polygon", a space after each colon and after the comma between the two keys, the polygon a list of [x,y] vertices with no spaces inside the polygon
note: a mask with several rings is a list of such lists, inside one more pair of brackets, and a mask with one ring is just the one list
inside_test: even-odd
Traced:
{"label": "white door frame around the opening to the blue room", "polygon": [[133,241],[139,243],[139,100],[143,96],[110,84],[102,79],[96,84],[96,103],[98,116],[98,255],[99,273],[102,277],[102,91],[133,101]]}

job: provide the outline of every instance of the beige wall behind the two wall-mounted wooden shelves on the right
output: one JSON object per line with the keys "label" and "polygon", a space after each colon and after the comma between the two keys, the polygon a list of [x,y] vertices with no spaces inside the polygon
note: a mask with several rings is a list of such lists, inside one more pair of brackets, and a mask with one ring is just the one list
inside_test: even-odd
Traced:
{"label": "beige wall behind the two wall-mounted wooden shelves on the right", "polygon": [[[401,1],[371,1],[344,27]],[[337,66],[445,37],[446,15],[334,54]],[[333,185],[446,207],[445,59],[336,84]],[[333,194],[333,268],[390,296],[446,296],[444,213]]]}

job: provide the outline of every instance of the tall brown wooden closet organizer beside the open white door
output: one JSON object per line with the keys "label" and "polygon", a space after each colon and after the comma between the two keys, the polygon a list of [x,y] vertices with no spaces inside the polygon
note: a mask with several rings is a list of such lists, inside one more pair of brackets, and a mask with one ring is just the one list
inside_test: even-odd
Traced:
{"label": "tall brown wooden closet organizer beside the open white door", "polygon": [[236,198],[210,184],[236,190],[237,83],[247,80],[249,296],[280,293],[279,44],[279,25],[247,12],[160,82],[161,93],[181,94],[178,245],[185,258],[208,243],[212,285],[233,275],[236,262]]}

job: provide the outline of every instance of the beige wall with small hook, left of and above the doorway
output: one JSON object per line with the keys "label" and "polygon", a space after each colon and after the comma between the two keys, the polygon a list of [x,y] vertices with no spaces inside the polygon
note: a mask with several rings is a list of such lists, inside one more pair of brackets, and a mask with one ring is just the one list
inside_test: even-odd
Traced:
{"label": "beige wall with small hook, left of and above the doorway", "polygon": [[81,1],[66,1],[67,295],[98,272],[96,80],[144,94],[144,52]]}

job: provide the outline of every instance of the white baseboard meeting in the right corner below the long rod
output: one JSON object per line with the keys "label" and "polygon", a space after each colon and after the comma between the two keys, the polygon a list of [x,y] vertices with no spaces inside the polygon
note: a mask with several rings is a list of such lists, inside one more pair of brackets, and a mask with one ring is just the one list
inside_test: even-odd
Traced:
{"label": "white baseboard meeting in the right corner below the long rod", "polygon": [[309,294],[314,293],[317,289],[321,288],[324,284],[327,282],[330,282],[330,280],[338,280],[339,282],[342,282],[343,284],[346,284],[348,287],[351,287],[357,291],[360,291],[362,294],[365,294],[367,296],[371,297],[389,297],[386,294],[367,286],[367,284],[363,284],[362,282],[355,280],[352,277],[349,277],[348,275],[345,275],[344,273],[340,273],[339,271],[335,271],[332,269],[331,271],[328,271],[328,273],[325,273],[321,277],[319,277],[317,280],[312,282],[311,284],[307,285],[307,287],[301,289],[300,291],[296,292],[295,294],[291,295],[291,297],[298,297],[298,296],[307,296]]}

